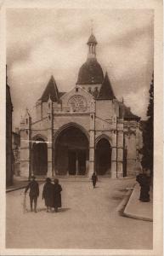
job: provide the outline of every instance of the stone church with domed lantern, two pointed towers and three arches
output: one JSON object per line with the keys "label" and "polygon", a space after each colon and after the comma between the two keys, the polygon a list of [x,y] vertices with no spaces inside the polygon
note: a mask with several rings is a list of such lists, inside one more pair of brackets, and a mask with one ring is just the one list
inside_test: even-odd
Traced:
{"label": "stone church with domed lantern, two pointed towers and three arches", "polygon": [[20,176],[127,177],[139,171],[139,116],[119,102],[88,39],[87,61],[74,88],[59,91],[52,76],[20,122]]}

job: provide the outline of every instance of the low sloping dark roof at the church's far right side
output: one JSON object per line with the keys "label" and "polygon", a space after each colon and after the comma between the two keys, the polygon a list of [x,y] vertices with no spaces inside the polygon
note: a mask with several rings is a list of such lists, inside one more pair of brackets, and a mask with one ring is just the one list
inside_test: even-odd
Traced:
{"label": "low sloping dark roof at the church's far right side", "polygon": [[140,117],[135,115],[131,112],[130,108],[128,108],[124,103],[119,102],[119,115],[120,117],[124,118],[125,120],[138,120]]}

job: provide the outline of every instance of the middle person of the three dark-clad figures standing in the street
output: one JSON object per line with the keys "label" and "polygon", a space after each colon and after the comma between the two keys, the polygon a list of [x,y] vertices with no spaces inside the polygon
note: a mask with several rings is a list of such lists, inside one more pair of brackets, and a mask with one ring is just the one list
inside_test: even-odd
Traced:
{"label": "middle person of the three dark-clad figures standing in the street", "polygon": [[42,200],[44,199],[47,207],[47,212],[51,212],[51,207],[54,206],[54,184],[51,183],[50,177],[46,178],[46,183],[42,190]]}

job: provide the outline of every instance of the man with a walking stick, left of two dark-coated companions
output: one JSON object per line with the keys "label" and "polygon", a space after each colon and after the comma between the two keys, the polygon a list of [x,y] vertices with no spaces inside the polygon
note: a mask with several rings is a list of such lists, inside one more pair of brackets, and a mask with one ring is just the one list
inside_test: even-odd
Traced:
{"label": "man with a walking stick, left of two dark-coated companions", "polygon": [[25,189],[25,194],[27,193],[28,189],[30,189],[30,205],[31,205],[31,212],[33,210],[32,205],[34,201],[34,212],[37,212],[37,197],[39,196],[39,184],[36,181],[35,176],[31,176],[31,182],[28,183]]}

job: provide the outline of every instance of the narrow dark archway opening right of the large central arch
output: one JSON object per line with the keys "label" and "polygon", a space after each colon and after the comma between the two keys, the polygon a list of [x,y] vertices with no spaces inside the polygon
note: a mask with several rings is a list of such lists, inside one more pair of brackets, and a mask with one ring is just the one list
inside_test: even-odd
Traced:
{"label": "narrow dark archway opening right of the large central arch", "polygon": [[96,172],[98,175],[110,175],[111,147],[107,139],[101,138],[95,150]]}

